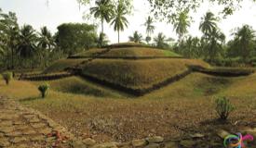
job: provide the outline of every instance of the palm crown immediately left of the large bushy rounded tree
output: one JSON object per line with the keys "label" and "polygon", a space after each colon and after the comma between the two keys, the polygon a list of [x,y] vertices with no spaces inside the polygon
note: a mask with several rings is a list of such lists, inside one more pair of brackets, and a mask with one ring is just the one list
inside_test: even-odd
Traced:
{"label": "palm crown immediately left of the large bushy rounded tree", "polygon": [[51,32],[47,29],[46,26],[41,28],[37,45],[39,48],[48,49],[48,50],[51,49],[51,46],[55,45]]}

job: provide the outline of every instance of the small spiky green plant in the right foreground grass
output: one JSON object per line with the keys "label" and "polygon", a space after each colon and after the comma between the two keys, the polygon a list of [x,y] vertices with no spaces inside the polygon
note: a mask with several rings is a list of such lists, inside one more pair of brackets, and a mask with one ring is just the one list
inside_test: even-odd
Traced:
{"label": "small spiky green plant in the right foreground grass", "polygon": [[225,121],[235,107],[232,105],[226,97],[220,97],[216,101],[216,111],[222,121]]}

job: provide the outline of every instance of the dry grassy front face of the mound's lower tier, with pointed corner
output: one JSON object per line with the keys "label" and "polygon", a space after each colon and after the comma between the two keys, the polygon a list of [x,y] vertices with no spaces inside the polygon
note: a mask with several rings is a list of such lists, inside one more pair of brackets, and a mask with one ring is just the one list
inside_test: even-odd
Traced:
{"label": "dry grassy front face of the mound's lower tier, with pointed corner", "polygon": [[[96,59],[83,66],[83,73],[131,89],[147,89],[187,70],[187,65],[208,64],[188,59],[121,60]],[[103,72],[102,72],[103,71]]]}

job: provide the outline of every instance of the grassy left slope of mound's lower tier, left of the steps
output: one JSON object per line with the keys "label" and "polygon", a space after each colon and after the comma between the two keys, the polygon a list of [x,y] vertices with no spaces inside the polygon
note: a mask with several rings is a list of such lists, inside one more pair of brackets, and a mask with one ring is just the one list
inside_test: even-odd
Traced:
{"label": "grassy left slope of mound's lower tier, left of the steps", "polygon": [[79,59],[61,59],[56,62],[54,62],[50,67],[48,67],[44,73],[55,73],[55,72],[61,72],[65,68],[71,68],[74,67],[83,61],[87,60],[87,58],[79,58]]}

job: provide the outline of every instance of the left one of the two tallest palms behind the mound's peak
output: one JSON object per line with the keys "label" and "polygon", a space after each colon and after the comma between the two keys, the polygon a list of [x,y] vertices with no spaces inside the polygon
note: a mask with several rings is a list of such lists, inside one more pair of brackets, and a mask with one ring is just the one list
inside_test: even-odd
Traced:
{"label": "left one of the two tallest palms behind the mound's peak", "polygon": [[104,32],[104,20],[110,22],[115,6],[112,4],[111,0],[97,0],[94,7],[90,8],[90,13],[94,15],[95,18],[101,19],[101,33]]}

